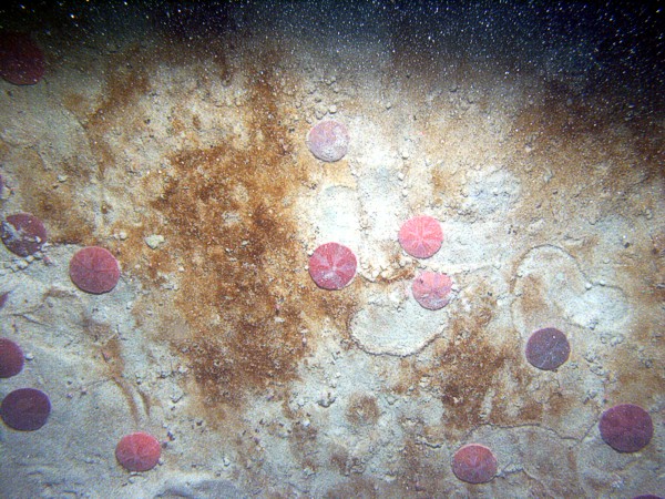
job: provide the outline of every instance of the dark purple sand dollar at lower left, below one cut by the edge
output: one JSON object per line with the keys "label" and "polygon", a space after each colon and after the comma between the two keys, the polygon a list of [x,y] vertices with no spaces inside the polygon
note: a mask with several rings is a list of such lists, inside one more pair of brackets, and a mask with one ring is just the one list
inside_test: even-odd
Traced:
{"label": "dark purple sand dollar at lower left, below one cut by the edge", "polygon": [[4,424],[20,431],[40,429],[49,419],[51,401],[47,394],[35,388],[13,390],[0,405],[0,417]]}

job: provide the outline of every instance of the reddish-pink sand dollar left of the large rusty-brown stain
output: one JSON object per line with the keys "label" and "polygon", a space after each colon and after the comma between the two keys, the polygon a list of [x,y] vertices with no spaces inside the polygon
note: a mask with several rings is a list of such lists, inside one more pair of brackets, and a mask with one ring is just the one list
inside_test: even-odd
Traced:
{"label": "reddish-pink sand dollar left of the large rusty-brown stain", "polygon": [[108,293],[120,279],[120,266],[109,249],[88,246],[79,249],[70,261],[70,277],[84,292]]}

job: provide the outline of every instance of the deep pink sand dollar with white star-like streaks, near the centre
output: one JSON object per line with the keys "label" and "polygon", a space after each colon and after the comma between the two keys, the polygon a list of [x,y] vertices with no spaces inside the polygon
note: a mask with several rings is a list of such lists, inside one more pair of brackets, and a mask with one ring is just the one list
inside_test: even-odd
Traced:
{"label": "deep pink sand dollar with white star-like streaks, near the centre", "polygon": [[341,289],[356,275],[358,262],[348,247],[339,243],[326,243],[309,257],[309,275],[324,289]]}

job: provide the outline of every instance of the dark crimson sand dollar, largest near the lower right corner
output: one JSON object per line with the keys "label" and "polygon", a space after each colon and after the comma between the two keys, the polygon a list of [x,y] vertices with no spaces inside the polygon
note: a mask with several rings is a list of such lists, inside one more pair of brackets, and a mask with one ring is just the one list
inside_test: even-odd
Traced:
{"label": "dark crimson sand dollar, largest near the lower right corner", "polygon": [[634,404],[620,404],[605,410],[598,428],[605,444],[620,452],[638,451],[654,435],[651,416]]}

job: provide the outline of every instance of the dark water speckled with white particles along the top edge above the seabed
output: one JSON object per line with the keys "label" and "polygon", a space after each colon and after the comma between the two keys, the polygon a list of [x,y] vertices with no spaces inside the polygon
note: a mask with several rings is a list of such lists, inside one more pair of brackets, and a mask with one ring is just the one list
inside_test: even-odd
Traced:
{"label": "dark water speckled with white particles along the top edge above the seabed", "polygon": [[0,9],[0,28],[75,42],[129,26],[145,37],[192,42],[264,32],[296,35],[324,51],[369,40],[408,58],[413,71],[453,59],[507,73],[546,72],[581,93],[604,91],[632,106],[661,108],[665,35],[656,3],[13,1]]}

